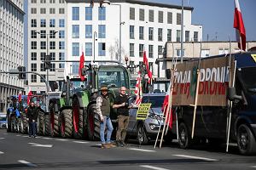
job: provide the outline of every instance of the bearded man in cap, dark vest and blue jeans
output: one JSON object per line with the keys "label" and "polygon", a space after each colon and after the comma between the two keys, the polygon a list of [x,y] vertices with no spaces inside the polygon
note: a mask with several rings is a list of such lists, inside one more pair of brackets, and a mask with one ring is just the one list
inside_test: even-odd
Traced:
{"label": "bearded man in cap, dark vest and blue jeans", "polygon": [[[114,144],[111,144],[111,135],[113,132],[113,125],[110,115],[110,102],[108,99],[108,87],[103,86],[101,88],[101,94],[96,99],[96,112],[100,116],[101,120],[101,130],[100,130],[100,137],[102,141],[102,148],[113,148],[115,147]],[[107,139],[105,140],[105,128],[107,130]]]}

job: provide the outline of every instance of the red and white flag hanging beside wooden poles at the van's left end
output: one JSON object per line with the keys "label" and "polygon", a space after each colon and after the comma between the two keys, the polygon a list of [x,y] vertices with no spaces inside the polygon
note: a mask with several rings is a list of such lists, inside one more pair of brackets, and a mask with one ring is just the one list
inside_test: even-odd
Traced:
{"label": "red and white flag hanging beside wooden poles at the van's left end", "polygon": [[[170,93],[171,93],[171,83],[168,87],[166,97],[165,97],[164,103],[162,105],[162,111],[164,111],[164,116],[166,116],[166,119],[167,119],[166,123],[168,124],[168,126],[170,128],[172,128],[172,110],[169,108],[170,107],[169,99],[170,99],[170,95],[172,95],[172,94],[170,94]],[[171,117],[169,118],[169,116],[171,116]]]}

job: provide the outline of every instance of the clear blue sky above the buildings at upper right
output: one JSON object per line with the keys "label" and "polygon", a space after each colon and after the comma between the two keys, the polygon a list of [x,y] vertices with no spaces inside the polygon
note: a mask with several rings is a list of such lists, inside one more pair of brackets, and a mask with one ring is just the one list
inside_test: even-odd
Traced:
{"label": "clear blue sky above the buildings at upper right", "polygon": [[[182,0],[147,0],[155,3],[180,5]],[[256,41],[256,0],[239,0],[247,41]],[[184,6],[193,7],[192,24],[203,26],[203,41],[236,40],[234,0],[183,0]],[[217,38],[216,38],[217,37]]]}

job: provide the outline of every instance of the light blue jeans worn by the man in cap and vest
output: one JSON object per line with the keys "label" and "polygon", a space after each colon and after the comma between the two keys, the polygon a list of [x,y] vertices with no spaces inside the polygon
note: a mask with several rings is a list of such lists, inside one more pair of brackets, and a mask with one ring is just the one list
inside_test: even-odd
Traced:
{"label": "light blue jeans worn by the man in cap and vest", "polygon": [[[100,136],[101,136],[101,141],[102,141],[102,144],[109,144],[110,143],[110,139],[111,139],[111,134],[113,132],[113,125],[112,125],[112,122],[111,122],[111,119],[110,117],[108,116],[103,116],[104,117],[104,121],[100,123],[100,126],[101,126],[101,131],[100,131]],[[105,128],[108,128],[107,130],[107,141],[105,141]]]}

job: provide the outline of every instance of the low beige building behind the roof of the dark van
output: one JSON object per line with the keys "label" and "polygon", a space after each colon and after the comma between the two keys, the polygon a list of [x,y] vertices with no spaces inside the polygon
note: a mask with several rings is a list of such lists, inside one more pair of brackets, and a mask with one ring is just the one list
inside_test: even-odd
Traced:
{"label": "low beige building behind the roof of the dark van", "polygon": [[[180,42],[166,42],[165,54],[161,55],[160,59],[156,60],[156,64],[160,64],[160,77],[165,76],[166,68],[171,68],[172,58],[180,60]],[[183,42],[183,59],[191,59],[193,57],[209,57],[219,54],[230,54],[237,53],[240,51],[238,48],[237,42]],[[256,41],[247,42],[247,51],[255,51]],[[201,53],[201,54],[200,54]]]}

